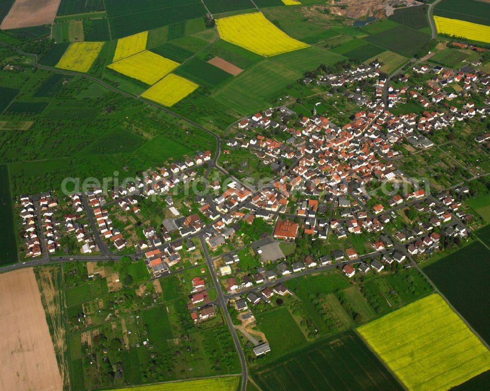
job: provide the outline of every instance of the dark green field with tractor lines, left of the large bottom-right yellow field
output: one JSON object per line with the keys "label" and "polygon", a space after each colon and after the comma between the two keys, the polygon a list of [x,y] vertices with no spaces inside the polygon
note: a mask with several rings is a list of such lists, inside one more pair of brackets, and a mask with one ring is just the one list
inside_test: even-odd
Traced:
{"label": "dark green field with tractor lines, left of the large bottom-right yellow field", "polygon": [[403,390],[352,331],[315,342],[250,372],[263,391]]}

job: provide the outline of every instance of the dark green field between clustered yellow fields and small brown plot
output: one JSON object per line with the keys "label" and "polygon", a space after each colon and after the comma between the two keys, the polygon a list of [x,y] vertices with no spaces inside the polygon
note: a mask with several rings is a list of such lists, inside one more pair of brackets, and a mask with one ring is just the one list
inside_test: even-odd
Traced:
{"label": "dark green field between clustered yellow fields and small brown plot", "polygon": [[210,89],[219,86],[233,77],[228,72],[198,58],[192,58],[182,64],[175,69],[174,73],[197,83],[199,86]]}

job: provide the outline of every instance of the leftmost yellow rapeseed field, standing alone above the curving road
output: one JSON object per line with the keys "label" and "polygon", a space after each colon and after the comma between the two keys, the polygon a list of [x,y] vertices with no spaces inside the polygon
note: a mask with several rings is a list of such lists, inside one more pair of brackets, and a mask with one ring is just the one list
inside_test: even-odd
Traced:
{"label": "leftmost yellow rapeseed field, standing alone above the curving road", "polygon": [[104,42],[74,42],[68,46],[56,68],[88,72]]}

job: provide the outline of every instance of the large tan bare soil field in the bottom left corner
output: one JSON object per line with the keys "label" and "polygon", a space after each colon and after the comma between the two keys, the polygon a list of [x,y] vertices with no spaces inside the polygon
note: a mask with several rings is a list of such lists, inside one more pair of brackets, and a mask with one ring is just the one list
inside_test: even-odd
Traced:
{"label": "large tan bare soil field in the bottom left corner", "polygon": [[61,391],[41,294],[32,268],[0,275],[0,389]]}

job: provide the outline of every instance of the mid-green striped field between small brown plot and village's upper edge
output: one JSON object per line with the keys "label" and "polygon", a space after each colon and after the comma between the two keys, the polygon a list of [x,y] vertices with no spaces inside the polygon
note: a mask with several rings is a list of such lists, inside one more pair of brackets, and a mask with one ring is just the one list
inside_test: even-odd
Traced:
{"label": "mid-green striped field between small brown plot and village's upper edge", "polygon": [[211,96],[230,109],[250,114],[267,107],[271,94],[299,77],[299,72],[264,60],[234,77]]}

